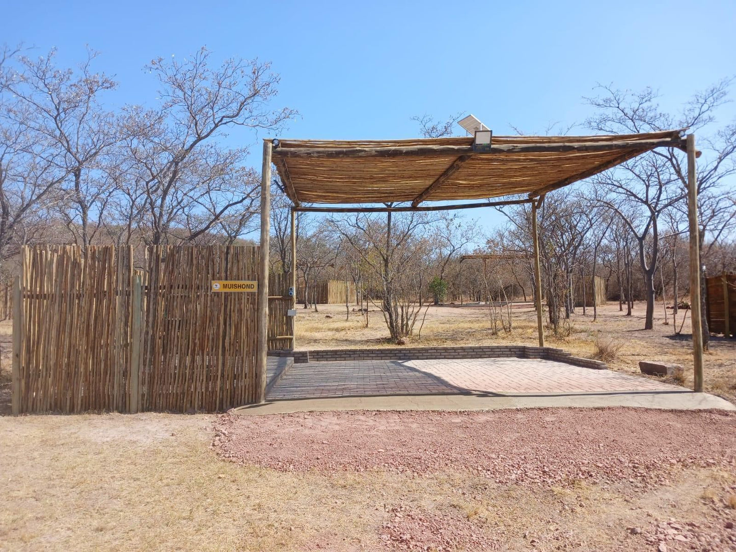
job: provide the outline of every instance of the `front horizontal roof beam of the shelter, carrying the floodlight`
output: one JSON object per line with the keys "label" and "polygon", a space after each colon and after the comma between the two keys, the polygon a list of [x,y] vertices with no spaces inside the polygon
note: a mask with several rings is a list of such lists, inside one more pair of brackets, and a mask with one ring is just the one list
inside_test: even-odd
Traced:
{"label": "front horizontal roof beam of the shelter, carrying the floodlight", "polygon": [[[517,153],[575,153],[575,152],[615,152],[617,150],[631,150],[645,152],[657,147],[676,147],[683,149],[684,140],[678,136],[672,138],[654,138],[650,140],[620,140],[588,143],[549,143],[549,144],[493,144],[488,152],[474,152],[473,145],[469,146],[378,146],[378,147],[342,147],[342,148],[290,148],[278,147],[274,149],[275,158],[391,158],[403,155],[417,155],[434,157],[442,155],[505,155]],[[637,154],[638,155],[638,154]]]}

